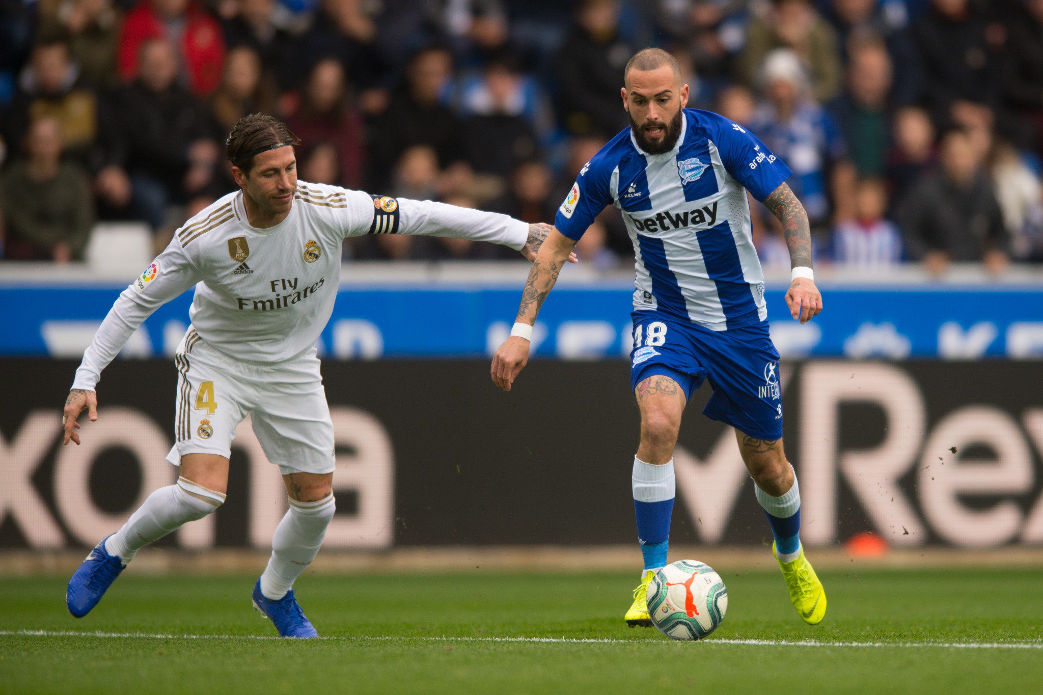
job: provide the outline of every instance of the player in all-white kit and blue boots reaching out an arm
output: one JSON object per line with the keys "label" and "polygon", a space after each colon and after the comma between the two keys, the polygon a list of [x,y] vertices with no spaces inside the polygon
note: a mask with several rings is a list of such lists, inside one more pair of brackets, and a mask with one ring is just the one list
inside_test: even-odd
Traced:
{"label": "player in all-white kit and blue boots reaching out an arm", "polygon": [[543,226],[505,215],[298,181],[296,143],[270,116],[236,124],[226,154],[240,190],[177,230],[83,353],[65,406],[64,445],[79,444],[84,408],[97,420],[101,370],[152,312],[195,286],[191,326],[174,355],[175,442],[167,460],[180,477],[153,492],[73,574],[66,602],[77,618],[139,549],[224,502],[232,440],[250,415],[289,497],[253,605],[282,637],[317,637],[291,588],[334,515],[334,432],[315,342],[336,300],[341,243],[367,233],[457,237],[504,244],[531,260],[547,237]]}

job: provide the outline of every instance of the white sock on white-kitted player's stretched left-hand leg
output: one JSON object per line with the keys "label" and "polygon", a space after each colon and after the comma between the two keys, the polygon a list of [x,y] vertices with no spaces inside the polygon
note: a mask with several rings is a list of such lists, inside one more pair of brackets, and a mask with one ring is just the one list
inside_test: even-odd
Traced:
{"label": "white sock on white-kitted player's stretched left-hand leg", "polygon": [[105,552],[119,555],[126,565],[149,543],[159,541],[187,521],[202,519],[223,503],[223,494],[177,478],[177,485],[160,488],[149,495],[123,528],[108,537]]}

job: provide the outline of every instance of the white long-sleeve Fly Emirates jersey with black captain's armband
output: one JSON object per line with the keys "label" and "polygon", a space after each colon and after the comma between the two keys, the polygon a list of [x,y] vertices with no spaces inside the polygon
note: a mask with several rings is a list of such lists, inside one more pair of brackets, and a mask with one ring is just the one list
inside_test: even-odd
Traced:
{"label": "white long-sleeve Fly Emirates jersey with black captain's armband", "polygon": [[152,312],[195,286],[189,317],[211,347],[247,363],[278,363],[308,350],[333,313],[340,248],[367,233],[456,237],[520,250],[526,223],[430,200],[371,196],[298,181],[286,219],[246,221],[242,192],[189,220],[120,294],[83,353],[73,389],[94,391],[104,369]]}

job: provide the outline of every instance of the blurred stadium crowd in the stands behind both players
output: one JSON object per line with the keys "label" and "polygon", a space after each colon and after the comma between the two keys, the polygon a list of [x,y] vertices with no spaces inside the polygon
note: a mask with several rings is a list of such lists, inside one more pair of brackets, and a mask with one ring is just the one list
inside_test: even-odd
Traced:
{"label": "blurred stadium crowd in the stands behind both players", "polygon": [[[653,45],[689,106],[793,169],[819,262],[1043,262],[1043,0],[0,0],[0,258],[81,258],[97,220],[165,246],[234,190],[223,141],[256,111],[300,138],[304,180],[551,221]],[[789,268],[754,209],[762,262]],[[616,210],[578,252],[628,262]]]}

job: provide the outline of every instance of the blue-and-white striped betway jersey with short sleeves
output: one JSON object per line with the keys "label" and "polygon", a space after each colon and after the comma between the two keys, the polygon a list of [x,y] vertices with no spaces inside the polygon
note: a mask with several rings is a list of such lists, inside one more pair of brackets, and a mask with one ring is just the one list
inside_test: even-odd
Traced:
{"label": "blue-and-white striped betway jersey with short sleeves", "polygon": [[746,191],[763,200],[790,174],[738,124],[686,108],[670,152],[642,151],[630,128],[605,145],[580,171],[555,226],[579,240],[615,205],[634,244],[634,311],[739,328],[768,316]]}

